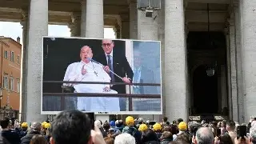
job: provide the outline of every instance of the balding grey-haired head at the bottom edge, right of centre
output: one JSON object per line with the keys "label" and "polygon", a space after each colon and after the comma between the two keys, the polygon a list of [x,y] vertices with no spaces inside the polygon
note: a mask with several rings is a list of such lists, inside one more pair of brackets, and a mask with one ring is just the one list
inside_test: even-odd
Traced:
{"label": "balding grey-haired head at the bottom edge, right of centre", "polygon": [[214,134],[208,127],[199,128],[196,137],[198,144],[212,144],[214,142]]}

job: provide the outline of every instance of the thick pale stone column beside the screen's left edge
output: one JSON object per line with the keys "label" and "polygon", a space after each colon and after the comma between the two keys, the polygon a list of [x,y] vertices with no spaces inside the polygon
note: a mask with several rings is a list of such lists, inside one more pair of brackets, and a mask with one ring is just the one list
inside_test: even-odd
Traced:
{"label": "thick pale stone column beside the screen's left edge", "polygon": [[48,35],[48,1],[30,0],[27,62],[26,121],[42,122],[42,36]]}

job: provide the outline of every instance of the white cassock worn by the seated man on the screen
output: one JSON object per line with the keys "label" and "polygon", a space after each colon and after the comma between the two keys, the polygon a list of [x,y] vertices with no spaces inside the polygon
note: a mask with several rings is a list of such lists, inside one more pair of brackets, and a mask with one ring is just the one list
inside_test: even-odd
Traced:
{"label": "white cassock worn by the seated man on the screen", "polygon": [[[82,67],[86,69],[86,74],[82,75]],[[63,81],[75,82],[110,82],[109,74],[103,70],[102,66],[95,62],[74,62],[66,69],[66,74]],[[72,84],[64,84],[72,86]],[[110,85],[105,84],[75,84],[75,93],[105,93],[105,94],[118,94],[115,90],[104,92],[105,87]],[[78,110],[86,111],[120,111],[119,98],[105,98],[105,97],[78,97]]]}

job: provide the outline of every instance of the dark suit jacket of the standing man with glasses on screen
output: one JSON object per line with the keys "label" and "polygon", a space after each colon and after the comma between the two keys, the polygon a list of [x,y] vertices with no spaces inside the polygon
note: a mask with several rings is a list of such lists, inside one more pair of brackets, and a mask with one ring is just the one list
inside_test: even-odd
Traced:
{"label": "dark suit jacket of the standing man with glasses on screen", "polygon": [[[93,58],[95,61],[102,63],[102,65],[107,66],[106,54],[99,54],[98,56]],[[126,56],[122,56],[120,54],[113,53],[113,67],[114,73],[118,74],[120,77],[127,77],[132,80],[134,77],[133,70],[130,68],[130,64],[127,61]],[[122,79],[118,78],[114,75],[115,82],[122,82]],[[119,94],[126,94],[126,85],[114,85],[112,86],[113,90],[118,91]]]}

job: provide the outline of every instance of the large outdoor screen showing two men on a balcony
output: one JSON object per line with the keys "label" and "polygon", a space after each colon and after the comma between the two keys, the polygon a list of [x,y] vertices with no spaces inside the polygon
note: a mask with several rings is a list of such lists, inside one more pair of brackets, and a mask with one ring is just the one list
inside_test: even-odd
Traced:
{"label": "large outdoor screen showing two men on a balcony", "polygon": [[160,49],[156,41],[44,37],[42,114],[162,114]]}

